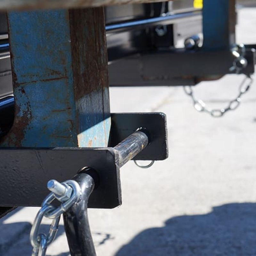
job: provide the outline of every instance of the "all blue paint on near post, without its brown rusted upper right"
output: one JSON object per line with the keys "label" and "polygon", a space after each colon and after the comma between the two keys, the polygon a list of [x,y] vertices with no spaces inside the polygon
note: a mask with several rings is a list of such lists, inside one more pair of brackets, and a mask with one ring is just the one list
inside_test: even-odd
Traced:
{"label": "all blue paint on near post, without its brown rusted upper right", "polygon": [[18,111],[1,146],[106,146],[110,117],[96,97],[102,93],[74,99],[68,10],[10,12],[8,19]]}

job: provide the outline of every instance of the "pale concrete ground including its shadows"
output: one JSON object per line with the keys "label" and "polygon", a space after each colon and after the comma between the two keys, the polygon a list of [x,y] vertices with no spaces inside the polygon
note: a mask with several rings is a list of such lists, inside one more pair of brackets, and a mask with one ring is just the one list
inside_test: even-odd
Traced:
{"label": "pale concrete ground including its shadows", "polygon": [[[238,42],[256,42],[256,8],[239,10]],[[243,76],[196,86],[212,108],[236,97]],[[256,82],[222,118],[198,113],[182,88],[111,88],[112,112],[167,114],[169,158],[121,170],[123,205],[89,211],[98,256],[256,255]],[[38,208],[0,220],[0,255],[30,255]],[[43,230],[50,222],[44,220]],[[63,222],[47,255],[68,256]]]}

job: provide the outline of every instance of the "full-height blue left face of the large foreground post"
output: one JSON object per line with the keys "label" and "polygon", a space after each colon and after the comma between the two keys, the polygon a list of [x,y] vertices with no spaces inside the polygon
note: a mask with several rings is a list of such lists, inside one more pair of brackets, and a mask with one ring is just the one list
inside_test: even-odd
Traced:
{"label": "full-height blue left face of the large foreground post", "polygon": [[[76,113],[66,11],[10,12],[8,16],[16,75],[14,96],[19,109],[16,117],[25,116],[27,122],[20,144],[76,145],[76,126],[68,121],[74,121]],[[17,145],[20,138],[15,136],[5,143]]]}

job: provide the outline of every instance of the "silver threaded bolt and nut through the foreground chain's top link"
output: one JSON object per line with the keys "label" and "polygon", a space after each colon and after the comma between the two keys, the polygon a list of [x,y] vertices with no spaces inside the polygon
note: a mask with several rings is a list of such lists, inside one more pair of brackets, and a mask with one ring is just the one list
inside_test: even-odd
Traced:
{"label": "silver threaded bolt and nut through the foreground chain's top link", "polygon": [[52,191],[55,195],[55,197],[60,202],[67,201],[73,192],[73,189],[69,187],[68,185],[65,186],[58,182],[57,180],[49,180],[47,183],[47,188]]}

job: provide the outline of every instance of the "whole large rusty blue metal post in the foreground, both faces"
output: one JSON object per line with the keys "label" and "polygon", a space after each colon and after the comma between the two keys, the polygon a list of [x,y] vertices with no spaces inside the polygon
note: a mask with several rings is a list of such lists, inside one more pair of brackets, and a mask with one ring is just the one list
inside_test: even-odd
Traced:
{"label": "whole large rusty blue metal post in the foreground, both faces", "polygon": [[5,147],[105,147],[103,8],[9,12],[15,119]]}

